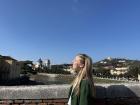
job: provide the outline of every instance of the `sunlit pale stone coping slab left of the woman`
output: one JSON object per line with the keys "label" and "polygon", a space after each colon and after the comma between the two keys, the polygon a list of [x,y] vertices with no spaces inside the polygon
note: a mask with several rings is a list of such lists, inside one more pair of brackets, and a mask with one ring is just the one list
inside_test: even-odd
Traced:
{"label": "sunlit pale stone coping slab left of the woman", "polygon": [[67,97],[69,85],[0,86],[0,99],[52,99]]}

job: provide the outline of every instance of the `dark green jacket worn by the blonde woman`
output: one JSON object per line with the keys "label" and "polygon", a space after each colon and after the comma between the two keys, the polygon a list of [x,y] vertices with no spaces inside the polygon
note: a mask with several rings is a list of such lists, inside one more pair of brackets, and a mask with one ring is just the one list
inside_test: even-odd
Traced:
{"label": "dark green jacket worn by the blonde woman", "polygon": [[[69,97],[72,91],[72,87],[69,91]],[[90,84],[88,80],[82,80],[80,83],[80,95],[77,96],[75,91],[73,91],[71,95],[71,105],[94,105],[93,104],[93,97],[92,97],[92,90],[90,88]]]}

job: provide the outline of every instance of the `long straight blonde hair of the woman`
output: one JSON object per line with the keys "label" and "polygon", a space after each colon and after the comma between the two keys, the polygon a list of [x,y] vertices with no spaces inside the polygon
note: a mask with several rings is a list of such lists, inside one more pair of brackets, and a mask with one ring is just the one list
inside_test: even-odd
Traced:
{"label": "long straight blonde hair of the woman", "polygon": [[92,59],[86,54],[78,54],[77,56],[80,57],[80,62],[84,64],[84,67],[79,71],[76,78],[72,82],[72,88],[76,91],[76,95],[79,95],[80,83],[83,79],[87,79],[91,89],[93,90],[92,96],[95,96],[95,87],[92,77]]}

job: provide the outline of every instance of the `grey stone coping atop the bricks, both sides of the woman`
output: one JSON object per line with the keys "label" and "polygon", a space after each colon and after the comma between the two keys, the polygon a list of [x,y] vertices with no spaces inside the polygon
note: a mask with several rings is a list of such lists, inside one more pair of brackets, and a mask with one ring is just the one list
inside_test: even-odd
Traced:
{"label": "grey stone coping atop the bricks, both sides of the woman", "polygon": [[[0,99],[68,98],[70,85],[0,86]],[[140,84],[96,84],[96,98],[140,97]]]}

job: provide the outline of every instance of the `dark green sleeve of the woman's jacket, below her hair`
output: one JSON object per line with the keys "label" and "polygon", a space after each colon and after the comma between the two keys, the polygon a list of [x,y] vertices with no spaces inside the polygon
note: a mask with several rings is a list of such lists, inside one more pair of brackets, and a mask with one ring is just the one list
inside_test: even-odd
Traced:
{"label": "dark green sleeve of the woman's jacket, below her hair", "polygon": [[80,86],[80,100],[79,105],[89,105],[90,87],[88,81],[82,81]]}

